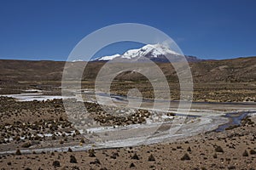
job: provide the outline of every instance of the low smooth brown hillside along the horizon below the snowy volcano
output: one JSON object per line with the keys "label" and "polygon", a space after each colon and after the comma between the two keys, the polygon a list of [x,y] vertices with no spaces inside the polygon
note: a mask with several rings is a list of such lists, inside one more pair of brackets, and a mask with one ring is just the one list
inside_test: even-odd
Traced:
{"label": "low smooth brown hillside along the horizon below the snowy volcano", "polygon": [[[83,71],[84,62],[67,63],[67,71],[76,68]],[[0,59],[1,81],[60,81],[64,61],[29,61]],[[104,62],[91,62],[86,66],[84,79],[94,80]],[[147,65],[147,64],[144,64]],[[159,63],[167,79],[177,82],[171,64]],[[189,63],[194,82],[254,82],[256,81],[256,57],[205,60]],[[148,68],[150,71],[150,68]],[[117,79],[142,80],[145,77],[137,73],[122,72]]]}

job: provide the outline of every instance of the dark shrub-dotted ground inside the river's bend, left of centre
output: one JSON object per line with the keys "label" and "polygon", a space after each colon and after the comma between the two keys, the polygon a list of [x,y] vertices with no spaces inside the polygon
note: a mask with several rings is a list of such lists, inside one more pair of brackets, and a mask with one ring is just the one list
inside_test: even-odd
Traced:
{"label": "dark shrub-dotted ground inside the river's bend, left of centre", "polygon": [[[100,105],[86,102],[84,105],[90,113],[89,117],[99,126],[144,123],[150,116],[146,110],[138,110],[129,116],[116,116],[102,111]],[[82,116],[83,113],[79,115]],[[62,99],[16,101],[13,98],[0,97],[0,150],[89,144],[89,140],[81,135],[82,132],[69,122],[70,119],[65,112]],[[78,119],[75,117],[75,121]],[[82,121],[79,119],[78,123],[80,125]],[[88,134],[88,138],[91,135]]]}

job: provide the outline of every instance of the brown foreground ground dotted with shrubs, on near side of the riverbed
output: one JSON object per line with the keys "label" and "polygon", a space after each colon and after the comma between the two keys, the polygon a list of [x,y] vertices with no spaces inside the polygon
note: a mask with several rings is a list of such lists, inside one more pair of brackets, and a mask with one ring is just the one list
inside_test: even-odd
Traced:
{"label": "brown foreground ground dotted with shrubs, on near side of the riverbed", "polygon": [[2,169],[255,169],[256,117],[169,144],[0,156]]}

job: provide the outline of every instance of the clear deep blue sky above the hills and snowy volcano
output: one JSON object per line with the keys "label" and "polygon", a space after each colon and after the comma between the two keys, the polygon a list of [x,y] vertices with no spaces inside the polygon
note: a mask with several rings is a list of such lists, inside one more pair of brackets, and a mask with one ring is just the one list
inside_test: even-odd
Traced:
{"label": "clear deep blue sky above the hills and snowy volcano", "polygon": [[255,0],[1,0],[0,59],[66,60],[90,32],[124,22],[154,26],[202,59],[255,56],[255,8]]}

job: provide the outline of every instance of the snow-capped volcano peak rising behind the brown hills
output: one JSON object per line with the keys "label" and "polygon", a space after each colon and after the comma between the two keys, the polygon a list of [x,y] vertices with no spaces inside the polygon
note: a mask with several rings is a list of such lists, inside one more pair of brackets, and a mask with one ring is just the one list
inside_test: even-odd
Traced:
{"label": "snow-capped volcano peak rising behind the brown hills", "polygon": [[[143,46],[143,48],[138,49],[130,49],[126,51],[124,54],[114,54],[110,56],[104,56],[98,59],[94,59],[94,61],[108,61],[112,59],[122,59],[122,60],[137,60],[137,61],[143,61],[145,58],[151,59],[153,61],[157,62],[169,62],[168,59],[166,59],[166,55],[172,55],[174,57],[178,57],[176,52],[172,51],[170,48],[166,47],[162,44],[148,44]],[[195,60],[195,57],[186,57],[188,60],[189,58],[193,58],[192,60]]]}

